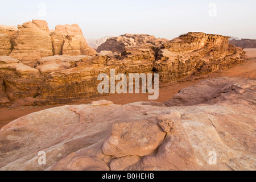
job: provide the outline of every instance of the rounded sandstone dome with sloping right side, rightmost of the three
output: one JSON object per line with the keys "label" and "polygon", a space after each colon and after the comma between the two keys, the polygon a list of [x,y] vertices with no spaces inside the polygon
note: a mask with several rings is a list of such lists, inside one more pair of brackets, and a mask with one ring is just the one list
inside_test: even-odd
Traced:
{"label": "rounded sandstone dome with sloping right side, rightmost of the three", "polygon": [[53,55],[95,55],[96,51],[88,46],[78,24],[57,25],[51,32]]}

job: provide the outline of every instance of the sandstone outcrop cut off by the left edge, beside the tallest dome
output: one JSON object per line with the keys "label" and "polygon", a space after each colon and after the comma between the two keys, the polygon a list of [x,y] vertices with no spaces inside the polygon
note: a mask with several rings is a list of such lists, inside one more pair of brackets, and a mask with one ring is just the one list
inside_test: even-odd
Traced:
{"label": "sandstone outcrop cut off by the left edge, beside the tallest dome", "polygon": [[18,28],[0,25],[0,56],[9,56],[13,49],[12,42]]}

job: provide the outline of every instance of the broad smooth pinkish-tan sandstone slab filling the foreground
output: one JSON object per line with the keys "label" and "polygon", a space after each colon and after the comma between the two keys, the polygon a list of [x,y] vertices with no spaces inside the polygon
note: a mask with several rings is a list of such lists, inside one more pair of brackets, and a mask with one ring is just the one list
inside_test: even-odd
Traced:
{"label": "broad smooth pinkish-tan sandstone slab filling the foreground", "polygon": [[[202,92],[207,85],[212,89]],[[0,130],[0,170],[255,170],[255,86],[222,77],[188,88],[197,105],[88,104],[32,113]],[[46,165],[38,164],[39,151]]]}

